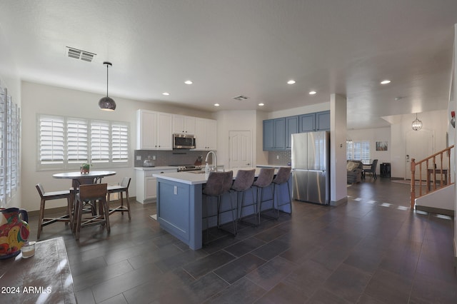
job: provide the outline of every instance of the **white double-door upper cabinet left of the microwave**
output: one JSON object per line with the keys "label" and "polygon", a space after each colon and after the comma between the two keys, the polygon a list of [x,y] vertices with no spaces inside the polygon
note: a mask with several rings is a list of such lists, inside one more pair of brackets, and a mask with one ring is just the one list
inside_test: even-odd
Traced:
{"label": "white double-door upper cabinet left of the microwave", "polygon": [[136,111],[136,149],[173,150],[172,114]]}

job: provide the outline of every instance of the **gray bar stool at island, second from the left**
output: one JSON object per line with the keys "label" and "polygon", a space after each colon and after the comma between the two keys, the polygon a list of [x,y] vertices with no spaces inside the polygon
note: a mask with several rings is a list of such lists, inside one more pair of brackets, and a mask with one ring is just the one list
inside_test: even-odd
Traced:
{"label": "gray bar stool at island, second from the left", "polygon": [[[249,208],[250,206],[253,206],[253,214],[254,214],[254,223],[249,223],[248,221],[243,221],[248,224],[251,224],[253,226],[257,226],[257,201],[254,199],[254,194],[253,191],[252,193],[252,203],[246,204],[244,201],[244,198],[246,197],[246,191],[251,188],[253,182],[254,182],[254,177],[256,175],[256,169],[251,169],[251,170],[239,170],[236,173],[236,178],[235,181],[233,182],[233,185],[231,186],[231,190],[236,191],[236,206],[239,208],[239,216],[241,217],[243,215],[243,209]],[[240,199],[241,196],[241,199]],[[238,212],[237,212],[238,213]],[[240,218],[241,221],[241,218]]]}

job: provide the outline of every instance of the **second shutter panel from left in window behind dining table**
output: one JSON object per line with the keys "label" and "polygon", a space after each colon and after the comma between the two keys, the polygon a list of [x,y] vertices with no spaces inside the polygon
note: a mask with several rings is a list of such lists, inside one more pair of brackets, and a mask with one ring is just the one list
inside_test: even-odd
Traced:
{"label": "second shutter panel from left in window behind dining table", "polygon": [[84,119],[69,118],[66,125],[69,163],[87,163],[89,161],[87,121]]}

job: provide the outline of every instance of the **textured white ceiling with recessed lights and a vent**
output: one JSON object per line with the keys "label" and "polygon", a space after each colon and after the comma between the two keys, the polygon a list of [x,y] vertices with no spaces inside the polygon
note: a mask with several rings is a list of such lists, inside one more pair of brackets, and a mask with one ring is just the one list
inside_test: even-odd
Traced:
{"label": "textured white ceiling with recessed lights and a vent", "polygon": [[[454,24],[456,0],[0,0],[0,34],[24,80],[104,95],[111,61],[110,96],[206,111],[341,93],[348,128],[447,108]],[[66,46],[95,60],[69,59]]]}

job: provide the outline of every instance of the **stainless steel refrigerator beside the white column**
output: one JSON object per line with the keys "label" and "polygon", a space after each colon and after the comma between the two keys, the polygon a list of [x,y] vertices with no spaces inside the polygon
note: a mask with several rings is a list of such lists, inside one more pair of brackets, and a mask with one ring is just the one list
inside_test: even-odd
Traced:
{"label": "stainless steel refrigerator beside the white column", "polygon": [[292,134],[293,198],[330,203],[330,133]]}

